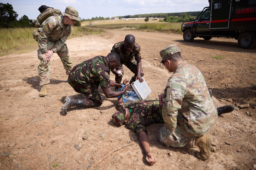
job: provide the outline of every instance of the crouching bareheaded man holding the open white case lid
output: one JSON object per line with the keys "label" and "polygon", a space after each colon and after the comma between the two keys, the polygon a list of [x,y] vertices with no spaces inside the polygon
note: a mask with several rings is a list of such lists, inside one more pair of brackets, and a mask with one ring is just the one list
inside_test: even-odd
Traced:
{"label": "crouching bareheaded man holding the open white case lid", "polygon": [[[141,69],[141,47],[135,42],[135,37],[133,35],[129,34],[125,36],[124,41],[116,43],[111,52],[117,53],[121,59],[120,65],[117,66],[115,70],[112,70],[115,74],[116,83],[121,83],[122,81],[124,74],[123,65],[127,66],[128,69],[134,73],[134,76],[130,80],[130,84],[137,79],[139,79],[140,82],[143,81],[141,78],[144,75],[143,70]],[[120,88],[115,88],[115,91],[120,91]]]}

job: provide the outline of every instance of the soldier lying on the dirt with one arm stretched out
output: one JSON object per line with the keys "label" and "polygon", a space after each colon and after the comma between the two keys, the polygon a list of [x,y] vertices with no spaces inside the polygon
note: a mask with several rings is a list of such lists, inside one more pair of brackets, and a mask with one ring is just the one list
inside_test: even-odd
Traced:
{"label": "soldier lying on the dirt with one arm stretched out", "polygon": [[[128,79],[124,80],[124,84],[126,83],[128,83]],[[150,152],[148,133],[145,126],[150,123],[164,123],[162,111],[159,108],[159,100],[144,99],[124,104],[123,96],[120,96],[117,102],[117,111],[112,115],[112,118],[115,125],[126,124],[128,128],[137,133],[146,153],[145,159],[147,163],[150,165],[155,164],[156,159]]]}

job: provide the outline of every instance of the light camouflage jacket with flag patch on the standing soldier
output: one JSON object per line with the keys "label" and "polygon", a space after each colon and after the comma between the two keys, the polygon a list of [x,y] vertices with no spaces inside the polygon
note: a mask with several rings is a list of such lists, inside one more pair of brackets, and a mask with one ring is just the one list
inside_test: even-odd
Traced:
{"label": "light camouflage jacket with flag patch on the standing soldier", "polygon": [[38,36],[38,45],[42,53],[47,51],[47,41],[53,41],[55,45],[52,50],[56,53],[61,49],[67,40],[68,36],[73,31],[71,25],[64,25],[64,16],[55,15],[50,16],[43,22],[43,29]]}

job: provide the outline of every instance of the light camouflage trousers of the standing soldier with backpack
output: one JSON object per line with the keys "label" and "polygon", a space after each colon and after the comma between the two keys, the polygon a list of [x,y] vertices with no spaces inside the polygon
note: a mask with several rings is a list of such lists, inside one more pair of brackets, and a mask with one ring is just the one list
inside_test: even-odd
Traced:
{"label": "light camouflage trousers of the standing soldier with backpack", "polygon": [[[47,42],[47,50],[52,49],[55,42],[49,41]],[[69,57],[69,50],[67,45],[64,44],[61,49],[57,52],[58,56],[61,58],[61,62],[63,63],[64,69],[66,70],[66,74],[68,75],[71,68],[72,68],[72,61]],[[38,75],[40,76],[40,83],[39,85],[45,85],[50,83],[50,63],[43,61],[43,53],[41,49],[38,49],[38,59],[40,63],[38,65]],[[51,61],[51,60],[50,60]]]}

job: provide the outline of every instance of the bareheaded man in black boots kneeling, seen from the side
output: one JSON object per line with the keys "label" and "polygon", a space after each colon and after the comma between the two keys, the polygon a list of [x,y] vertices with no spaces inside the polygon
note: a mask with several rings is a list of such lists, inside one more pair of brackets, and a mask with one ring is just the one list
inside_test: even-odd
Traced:
{"label": "bareheaded man in black boots kneeling, seen from the side", "polygon": [[109,53],[106,57],[96,56],[84,61],[72,68],[69,74],[68,83],[78,93],[85,95],[85,99],[74,99],[67,96],[65,104],[62,106],[62,113],[65,116],[67,110],[73,106],[97,107],[101,106],[103,97],[98,92],[98,86],[108,98],[123,95],[123,91],[111,91],[110,86],[122,87],[121,84],[110,80],[110,70],[115,69],[120,64],[120,58],[117,53]]}

